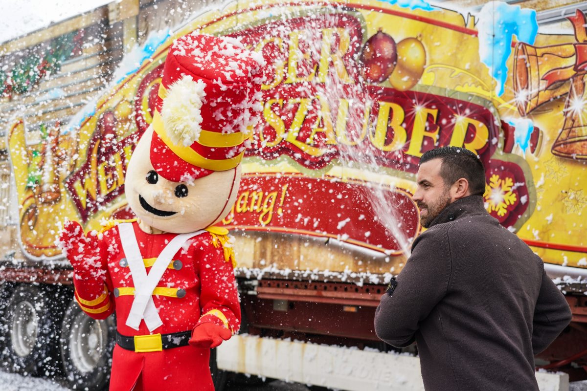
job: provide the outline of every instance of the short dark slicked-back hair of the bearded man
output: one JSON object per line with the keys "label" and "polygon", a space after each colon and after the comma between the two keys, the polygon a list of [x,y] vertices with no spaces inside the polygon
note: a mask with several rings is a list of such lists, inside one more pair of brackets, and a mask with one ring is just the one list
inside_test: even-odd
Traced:
{"label": "short dark slicked-back hair of the bearded man", "polygon": [[458,179],[469,182],[471,195],[485,193],[485,169],[473,152],[463,147],[440,147],[424,152],[420,164],[432,159],[441,159],[440,176],[445,186],[451,186]]}

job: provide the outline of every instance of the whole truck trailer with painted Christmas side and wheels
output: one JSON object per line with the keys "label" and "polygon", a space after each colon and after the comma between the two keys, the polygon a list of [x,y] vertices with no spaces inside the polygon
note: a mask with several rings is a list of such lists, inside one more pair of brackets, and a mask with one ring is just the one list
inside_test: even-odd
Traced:
{"label": "whole truck trailer with painted Christmas side and wheels", "polygon": [[65,219],[100,230],[133,217],[127,162],[170,43],[199,29],[266,61],[261,120],[222,222],[243,325],[212,355],[217,389],[225,371],[423,389],[414,347],[394,354],[373,315],[423,229],[411,194],[438,145],[477,152],[488,212],[571,305],[571,326],[537,360],[566,373],[537,372],[541,389],[587,378],[587,7],[464,3],[122,0],[2,44],[5,370],[107,383],[114,322],[72,301],[55,236]]}

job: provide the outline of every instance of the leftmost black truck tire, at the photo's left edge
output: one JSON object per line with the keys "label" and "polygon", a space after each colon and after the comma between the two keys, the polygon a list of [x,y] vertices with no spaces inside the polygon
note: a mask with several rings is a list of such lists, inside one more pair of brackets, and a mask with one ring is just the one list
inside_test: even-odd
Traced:
{"label": "leftmost black truck tire, at the photo's left edge", "polygon": [[57,331],[61,314],[56,290],[50,287],[16,286],[5,308],[6,369],[23,375],[36,375],[44,369],[54,375],[58,366]]}

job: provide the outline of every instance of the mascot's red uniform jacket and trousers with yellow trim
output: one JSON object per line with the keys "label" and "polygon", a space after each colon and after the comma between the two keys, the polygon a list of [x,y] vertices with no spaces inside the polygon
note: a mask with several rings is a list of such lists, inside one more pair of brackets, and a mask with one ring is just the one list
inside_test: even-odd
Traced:
{"label": "mascot's red uniform jacket and trousers with yellow trim", "polygon": [[[132,221],[149,273],[157,256],[177,234],[147,234]],[[189,339],[191,330],[203,322],[224,325],[233,333],[238,330],[241,311],[234,257],[230,245],[224,246],[225,233],[225,229],[211,227],[187,240],[177,251],[153,291],[153,302],[163,322],[153,332],[144,320],[138,331],[126,325],[134,285],[118,227],[110,227],[98,236],[101,259],[107,264],[106,286],[99,278],[82,280],[74,276],[76,300],[94,319],[105,319],[116,310],[117,332],[130,340],[134,338],[136,349],[124,349],[118,343],[114,347],[110,391],[214,390],[209,348],[187,345],[161,349],[161,338],[149,335],[187,332]],[[135,336],[142,337],[137,342]]]}

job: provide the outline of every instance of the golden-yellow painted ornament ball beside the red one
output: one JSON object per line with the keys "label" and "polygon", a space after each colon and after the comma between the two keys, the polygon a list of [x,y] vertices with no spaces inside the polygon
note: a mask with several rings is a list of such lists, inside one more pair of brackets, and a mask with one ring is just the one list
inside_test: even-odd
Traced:
{"label": "golden-yellow painted ornament ball beside the red one", "polygon": [[397,44],[397,64],[389,77],[389,83],[399,91],[415,86],[426,66],[426,49],[417,38],[406,38]]}

